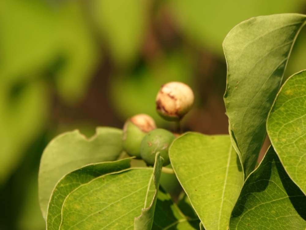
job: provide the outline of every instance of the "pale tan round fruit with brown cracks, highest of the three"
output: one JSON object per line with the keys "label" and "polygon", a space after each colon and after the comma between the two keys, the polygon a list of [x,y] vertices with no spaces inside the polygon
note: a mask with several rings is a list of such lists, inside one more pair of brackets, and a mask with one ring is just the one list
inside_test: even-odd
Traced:
{"label": "pale tan round fruit with brown cracks, highest of the three", "polygon": [[192,89],[182,82],[168,82],[156,96],[156,110],[168,121],[179,121],[191,109],[194,102]]}

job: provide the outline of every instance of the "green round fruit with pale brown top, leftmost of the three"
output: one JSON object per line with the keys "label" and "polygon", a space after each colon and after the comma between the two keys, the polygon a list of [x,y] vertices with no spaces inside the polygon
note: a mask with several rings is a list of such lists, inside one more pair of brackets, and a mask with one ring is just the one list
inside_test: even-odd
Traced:
{"label": "green round fruit with pale brown top, leftmost of the three", "polygon": [[138,114],[128,119],[123,126],[122,148],[130,156],[140,158],[140,143],[156,125],[152,117]]}

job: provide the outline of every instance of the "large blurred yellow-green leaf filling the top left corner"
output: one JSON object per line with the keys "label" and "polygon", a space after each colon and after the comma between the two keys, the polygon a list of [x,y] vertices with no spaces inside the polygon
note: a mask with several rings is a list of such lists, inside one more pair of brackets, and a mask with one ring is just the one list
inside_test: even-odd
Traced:
{"label": "large blurred yellow-green leaf filling the top left corner", "polygon": [[50,5],[40,0],[3,0],[1,75],[34,80],[33,72],[48,77],[52,64],[62,62],[51,76],[58,93],[66,102],[81,98],[98,58],[82,6],[78,1]]}

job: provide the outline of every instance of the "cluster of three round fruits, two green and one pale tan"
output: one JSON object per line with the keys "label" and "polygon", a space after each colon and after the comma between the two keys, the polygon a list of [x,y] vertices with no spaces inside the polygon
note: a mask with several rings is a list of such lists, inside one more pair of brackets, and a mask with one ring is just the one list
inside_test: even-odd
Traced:
{"label": "cluster of three round fruits, two green and one pale tan", "polygon": [[[156,110],[168,121],[180,122],[191,109],[194,95],[191,88],[181,82],[169,82],[160,88],[156,96]],[[159,152],[164,159],[163,166],[170,164],[168,149],[175,135],[166,129],[156,128],[155,121],[147,114],[129,118],[123,127],[123,149],[130,156],[143,159],[147,165],[154,165]]]}

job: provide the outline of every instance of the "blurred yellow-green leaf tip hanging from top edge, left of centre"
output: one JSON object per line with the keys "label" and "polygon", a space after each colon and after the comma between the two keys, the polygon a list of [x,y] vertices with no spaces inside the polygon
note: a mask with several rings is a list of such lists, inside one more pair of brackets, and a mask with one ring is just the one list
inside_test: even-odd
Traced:
{"label": "blurred yellow-green leaf tip hanging from top edge, left of centre", "polygon": [[91,5],[97,29],[115,62],[126,65],[135,61],[148,26],[148,2],[94,0]]}

